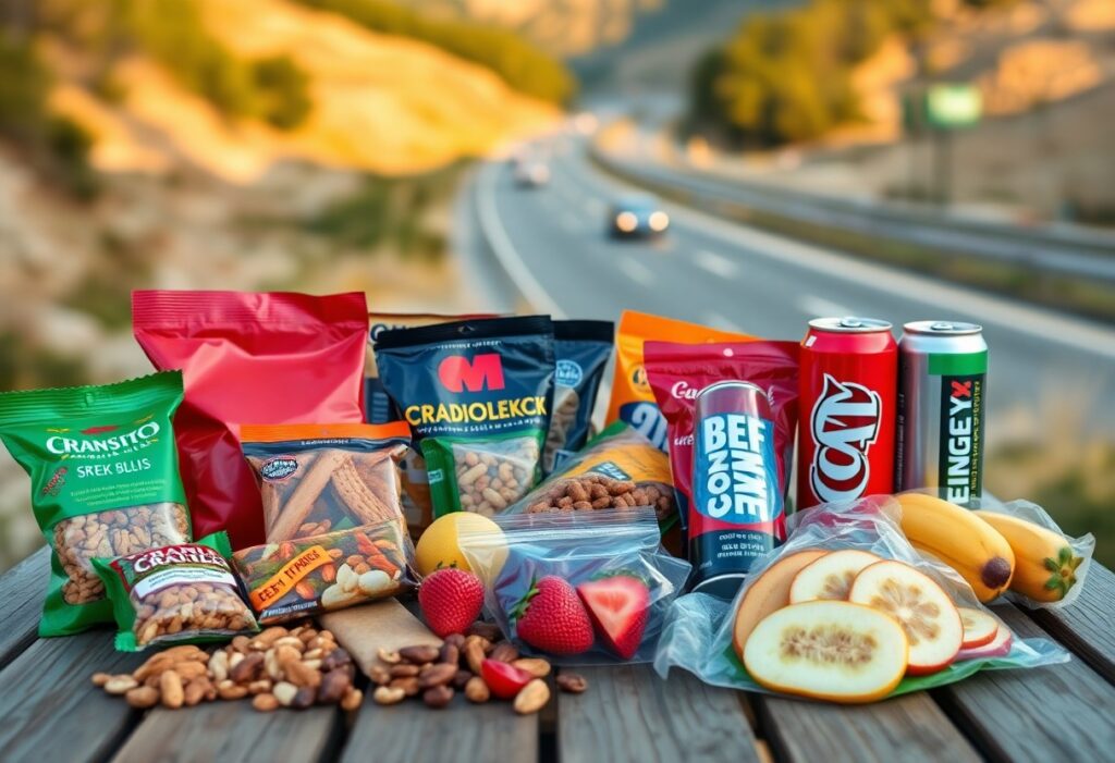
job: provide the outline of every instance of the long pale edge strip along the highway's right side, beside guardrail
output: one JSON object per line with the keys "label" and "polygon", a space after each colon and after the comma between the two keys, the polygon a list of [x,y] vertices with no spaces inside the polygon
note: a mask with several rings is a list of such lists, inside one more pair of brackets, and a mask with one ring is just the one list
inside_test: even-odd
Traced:
{"label": "long pale edge strip along the highway's right side, beside guardrail", "polygon": [[983,325],[995,324],[1047,342],[1115,359],[1115,332],[1098,324],[1067,317],[1043,307],[1014,304],[999,296],[933,281],[928,276],[901,273],[846,254],[826,252],[811,244],[730,223],[691,207],[673,206],[670,214],[699,231],[746,246],[759,257],[824,273],[860,286],[901,294],[910,302],[929,305],[933,309],[930,312],[937,314],[949,312],[970,316]]}

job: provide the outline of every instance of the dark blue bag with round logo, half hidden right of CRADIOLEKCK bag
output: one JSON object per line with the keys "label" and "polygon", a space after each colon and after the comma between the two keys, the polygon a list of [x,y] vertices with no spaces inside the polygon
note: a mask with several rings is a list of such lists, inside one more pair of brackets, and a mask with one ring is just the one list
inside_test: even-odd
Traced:
{"label": "dark blue bag with round logo, half hidden right of CRADIOLEKCK bag", "polygon": [[558,368],[550,432],[542,453],[542,470],[547,475],[589,441],[614,333],[611,321],[554,321]]}

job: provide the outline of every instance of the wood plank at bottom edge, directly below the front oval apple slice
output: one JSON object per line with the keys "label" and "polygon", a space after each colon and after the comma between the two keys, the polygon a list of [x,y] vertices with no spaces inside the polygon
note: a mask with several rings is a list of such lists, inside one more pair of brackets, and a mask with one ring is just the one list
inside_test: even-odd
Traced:
{"label": "wood plank at bottom edge, directly below the front oval apple slice", "polygon": [[759,727],[778,760],[903,763],[979,761],[948,716],[925,694],[872,705],[756,695]]}

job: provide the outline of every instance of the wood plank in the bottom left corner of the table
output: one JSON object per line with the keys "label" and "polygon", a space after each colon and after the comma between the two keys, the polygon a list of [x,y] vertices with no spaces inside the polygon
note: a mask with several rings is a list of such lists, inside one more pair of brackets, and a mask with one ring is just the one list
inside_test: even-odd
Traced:
{"label": "wood plank in the bottom left corner of the table", "polygon": [[113,649],[106,630],[35,642],[0,672],[0,750],[13,761],[103,761],[136,713],[89,682],[97,671],[129,673],[142,658]]}

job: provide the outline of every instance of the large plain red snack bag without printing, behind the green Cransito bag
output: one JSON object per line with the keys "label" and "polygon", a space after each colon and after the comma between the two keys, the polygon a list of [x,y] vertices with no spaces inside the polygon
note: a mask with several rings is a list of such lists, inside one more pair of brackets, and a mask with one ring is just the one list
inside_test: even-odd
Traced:
{"label": "large plain red snack bag without printing, behind the green Cransito bag", "polygon": [[182,370],[174,424],[195,535],[262,544],[237,422],[363,421],[363,294],[137,291],[132,323],[156,369]]}

